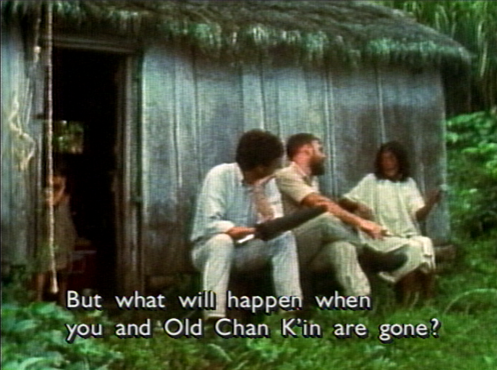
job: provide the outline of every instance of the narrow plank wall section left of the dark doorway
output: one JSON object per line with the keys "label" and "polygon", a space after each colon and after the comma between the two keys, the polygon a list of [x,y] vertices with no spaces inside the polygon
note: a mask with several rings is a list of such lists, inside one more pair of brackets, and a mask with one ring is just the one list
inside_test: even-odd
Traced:
{"label": "narrow plank wall section left of the dark doorway", "polygon": [[[35,244],[36,159],[41,123],[34,122],[35,71],[20,27],[2,22],[2,263],[25,264]],[[37,124],[38,123],[38,124]]]}

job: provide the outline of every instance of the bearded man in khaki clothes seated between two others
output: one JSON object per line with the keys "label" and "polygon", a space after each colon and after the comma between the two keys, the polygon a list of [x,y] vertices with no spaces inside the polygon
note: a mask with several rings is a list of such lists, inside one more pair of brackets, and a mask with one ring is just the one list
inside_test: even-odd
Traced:
{"label": "bearded man in khaki clothes seated between two others", "polygon": [[345,295],[369,295],[369,281],[357,259],[357,248],[361,248],[362,243],[341,221],[375,239],[381,238],[382,228],[345,211],[320,194],[316,176],[324,174],[326,157],[317,137],[307,133],[293,135],[288,139],[286,150],[291,163],[276,174],[285,214],[301,207],[320,205],[328,210],[293,230],[301,268],[311,271],[332,269]]}

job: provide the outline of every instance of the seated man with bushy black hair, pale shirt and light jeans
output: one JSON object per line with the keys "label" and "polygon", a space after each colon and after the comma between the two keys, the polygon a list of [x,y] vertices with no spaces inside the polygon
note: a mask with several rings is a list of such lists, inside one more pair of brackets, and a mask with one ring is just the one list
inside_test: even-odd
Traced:
{"label": "seated man with bushy black hair, pale shirt and light jeans", "polygon": [[193,263],[202,272],[204,290],[216,293],[216,310],[207,320],[225,317],[230,272],[272,265],[277,296],[301,297],[298,257],[291,232],[264,242],[237,243],[255,232],[254,225],[283,215],[274,171],[281,165],[281,141],[269,132],[248,131],[240,138],[236,163],[221,164],[207,174],[198,198],[192,232]]}

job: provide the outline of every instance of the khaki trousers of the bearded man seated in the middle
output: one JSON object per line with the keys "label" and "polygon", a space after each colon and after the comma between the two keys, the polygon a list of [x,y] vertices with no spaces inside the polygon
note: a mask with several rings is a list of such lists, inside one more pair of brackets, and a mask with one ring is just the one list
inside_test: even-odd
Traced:
{"label": "khaki trousers of the bearded man seated in the middle", "polygon": [[357,259],[362,242],[339,219],[322,214],[294,229],[301,269],[334,271],[345,295],[371,293],[369,280]]}

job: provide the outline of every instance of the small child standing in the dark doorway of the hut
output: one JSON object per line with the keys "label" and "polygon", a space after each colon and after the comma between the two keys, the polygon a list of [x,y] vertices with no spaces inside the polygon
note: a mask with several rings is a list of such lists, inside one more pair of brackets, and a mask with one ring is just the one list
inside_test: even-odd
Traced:
{"label": "small child standing in the dark doorway of the hut", "polygon": [[[76,243],[76,228],[71,217],[70,196],[67,193],[67,177],[60,170],[55,170],[52,176],[52,196],[45,198],[45,210],[53,206],[54,214],[54,257],[51,257],[50,247],[48,245],[48,232],[40,250],[38,251],[38,261],[40,263],[39,272],[35,276],[36,300],[42,301],[47,282],[51,278],[52,258],[55,259],[55,268],[57,270],[58,303],[65,306],[65,295],[67,291],[67,280],[71,270],[72,252]],[[48,212],[45,212],[47,214]],[[48,229],[47,218],[45,217],[44,229]]]}

